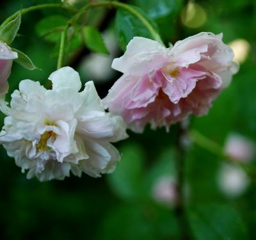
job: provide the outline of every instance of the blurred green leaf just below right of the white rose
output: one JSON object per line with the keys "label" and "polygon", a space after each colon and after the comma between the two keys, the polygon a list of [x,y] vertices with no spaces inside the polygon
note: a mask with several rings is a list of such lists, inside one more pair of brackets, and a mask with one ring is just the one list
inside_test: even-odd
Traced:
{"label": "blurred green leaf just below right of the white rose", "polygon": [[140,196],[142,187],[142,168],[145,154],[140,145],[125,145],[120,149],[122,159],[115,172],[108,175],[108,182],[116,195],[122,198]]}

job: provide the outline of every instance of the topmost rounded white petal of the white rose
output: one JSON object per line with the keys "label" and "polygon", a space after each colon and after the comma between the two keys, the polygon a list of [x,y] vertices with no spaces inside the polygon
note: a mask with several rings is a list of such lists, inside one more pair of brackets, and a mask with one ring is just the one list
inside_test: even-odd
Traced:
{"label": "topmost rounded white petal of the white rose", "polygon": [[71,67],[63,67],[52,72],[49,80],[52,81],[52,90],[73,88],[78,92],[82,86],[78,72]]}

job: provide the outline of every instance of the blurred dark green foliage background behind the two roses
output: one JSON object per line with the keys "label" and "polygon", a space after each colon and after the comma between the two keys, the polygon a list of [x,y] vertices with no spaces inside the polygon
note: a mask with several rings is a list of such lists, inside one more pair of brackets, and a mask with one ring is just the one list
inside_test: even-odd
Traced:
{"label": "blurred dark green foliage background behind the two roses", "polygon": [[[20,8],[43,2],[59,1],[1,1],[0,20],[3,22]],[[77,2],[75,6],[80,7],[87,1]],[[256,1],[123,2],[140,7],[156,24],[166,45],[201,31],[223,33],[226,44],[233,42],[236,59],[241,63],[239,73],[214,102],[209,115],[189,118],[190,127],[222,147],[232,133],[249,139],[254,146]],[[84,19],[85,24],[96,26],[103,33],[110,57],[91,54],[79,41],[67,46],[65,65],[78,70],[83,83],[93,79],[100,97],[106,96],[120,76],[108,70],[113,57],[122,54],[121,48],[133,35],[148,36],[140,22],[128,13],[115,13],[113,8],[96,8]],[[20,36],[13,42],[13,47],[28,54],[41,70],[29,71],[13,63],[8,80],[9,93],[18,88],[22,79],[33,79],[50,87],[47,77],[56,69],[60,34],[57,33],[57,43],[51,37],[45,40],[40,36],[44,24],[38,24],[51,15],[71,16],[64,10],[51,9],[22,17]],[[127,26],[129,29],[125,30]],[[96,72],[106,69],[106,72],[95,75],[92,69]],[[1,115],[2,123],[3,119]],[[177,127],[173,125],[168,133],[164,129],[152,131],[149,127],[143,134],[128,133],[128,140],[115,144],[122,152],[122,161],[117,164],[115,173],[100,179],[83,174],[81,178],[70,176],[62,181],[44,183],[37,179],[27,180],[1,146],[1,239],[179,239],[173,214],[175,193],[170,191],[175,177],[173,161]],[[254,155],[250,161],[255,165]],[[224,184],[220,179],[223,161],[193,143],[189,145],[186,162],[186,202],[195,239],[255,239],[255,180],[247,179],[244,188],[232,193],[221,188]],[[229,184],[228,188],[241,186],[239,177],[237,180],[235,174]]]}

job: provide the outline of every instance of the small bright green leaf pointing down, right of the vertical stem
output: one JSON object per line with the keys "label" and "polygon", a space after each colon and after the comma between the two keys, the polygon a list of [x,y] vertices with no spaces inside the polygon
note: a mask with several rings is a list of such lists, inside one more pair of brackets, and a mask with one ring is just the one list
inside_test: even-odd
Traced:
{"label": "small bright green leaf pointing down, right of the vertical stem", "polygon": [[104,44],[103,38],[100,35],[100,32],[93,28],[92,26],[86,26],[83,28],[83,37],[86,44],[86,47],[94,52],[100,52],[108,54],[108,49]]}

